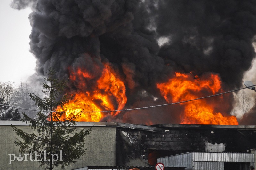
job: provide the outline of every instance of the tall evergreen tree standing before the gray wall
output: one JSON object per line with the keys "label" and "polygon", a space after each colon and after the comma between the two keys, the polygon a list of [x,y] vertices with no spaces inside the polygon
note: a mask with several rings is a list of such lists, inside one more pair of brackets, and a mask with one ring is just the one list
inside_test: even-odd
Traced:
{"label": "tall evergreen tree standing before the gray wall", "polygon": [[[65,88],[65,82],[55,79],[52,69],[49,70],[47,75],[48,78],[44,78],[45,82],[42,85],[44,97],[40,98],[34,93],[29,94],[40,110],[36,114],[37,118],[29,118],[22,112],[23,118],[21,120],[28,122],[31,129],[36,133],[29,134],[12,126],[14,132],[21,138],[16,139],[15,144],[19,147],[21,153],[32,154],[35,151],[42,151],[40,158],[37,158],[37,160],[43,159],[43,161],[39,161],[40,166],[50,170],[54,166],[61,166],[64,169],[65,166],[75,163],[77,159],[84,155],[86,151],[84,149],[85,136],[89,135],[92,128],[76,131],[75,119],[80,117],[81,112],[70,113],[68,117],[62,118],[63,112],[58,112],[58,110],[63,111],[64,105],[69,102],[72,96],[64,94],[60,97]],[[45,114],[43,111],[50,112]],[[57,156],[55,154],[58,154],[58,160],[56,160]],[[35,154],[33,158],[35,159]],[[44,159],[47,161],[44,161]]]}

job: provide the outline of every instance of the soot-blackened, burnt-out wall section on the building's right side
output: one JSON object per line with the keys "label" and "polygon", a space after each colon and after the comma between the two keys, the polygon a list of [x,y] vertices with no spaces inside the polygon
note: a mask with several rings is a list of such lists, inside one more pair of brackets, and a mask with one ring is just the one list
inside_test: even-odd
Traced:
{"label": "soot-blackened, burnt-out wall section on the building's right side", "polygon": [[[154,165],[151,159],[185,152],[247,153],[255,148],[255,126],[156,125],[155,131],[119,128],[125,155]],[[123,142],[122,142],[123,140]],[[124,146],[125,145],[125,146]],[[119,166],[123,166],[118,164]]]}

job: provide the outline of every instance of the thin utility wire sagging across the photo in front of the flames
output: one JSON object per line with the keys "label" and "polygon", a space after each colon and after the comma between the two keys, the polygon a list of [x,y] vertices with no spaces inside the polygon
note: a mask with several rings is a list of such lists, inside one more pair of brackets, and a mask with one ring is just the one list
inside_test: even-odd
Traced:
{"label": "thin utility wire sagging across the photo in front of the flames", "polygon": [[[121,109],[121,110],[88,111],[88,112],[59,112],[59,113],[119,112],[119,111],[130,111],[130,110],[148,109],[148,108],[152,108],[152,107],[161,107],[161,106],[167,106],[167,105],[172,105],[172,104],[180,104],[180,103],[185,103],[185,102],[191,102],[191,101],[194,101],[194,100],[200,100],[200,99],[204,99],[204,98],[220,96],[220,95],[223,95],[223,94],[231,93],[231,92],[234,92],[234,91],[239,91],[239,90],[246,89],[246,88],[253,87],[253,86],[256,86],[256,84],[252,85],[252,86],[244,87],[244,88],[241,88],[241,89],[235,89],[235,90],[231,90],[231,91],[227,91],[227,92],[223,92],[223,93],[214,94],[214,95],[211,95],[211,96],[205,96],[205,97],[200,97],[200,98],[196,98],[196,99],[185,100],[185,101],[175,102],[175,103],[160,104],[160,105],[155,105],[155,106],[139,107],[139,108],[132,108],[132,109]],[[34,110],[34,109],[26,109],[26,108],[8,106],[8,105],[4,105],[4,104],[0,104],[0,105],[7,106],[7,107],[12,107],[12,108],[15,108],[15,109],[23,109],[23,110],[30,110],[30,111],[37,111],[37,112],[56,112],[56,111],[43,111],[43,110],[41,111],[41,110]]]}

